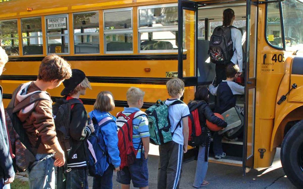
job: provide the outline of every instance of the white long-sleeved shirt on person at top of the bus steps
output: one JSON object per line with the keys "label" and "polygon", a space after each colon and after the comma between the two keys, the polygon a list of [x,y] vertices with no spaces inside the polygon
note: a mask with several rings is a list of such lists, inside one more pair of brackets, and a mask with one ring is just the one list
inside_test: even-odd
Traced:
{"label": "white long-sleeved shirt on person at top of the bus steps", "polygon": [[231,39],[233,44],[234,55],[231,57],[231,62],[238,64],[240,72],[242,72],[243,55],[242,55],[242,34],[237,28],[231,28]]}

